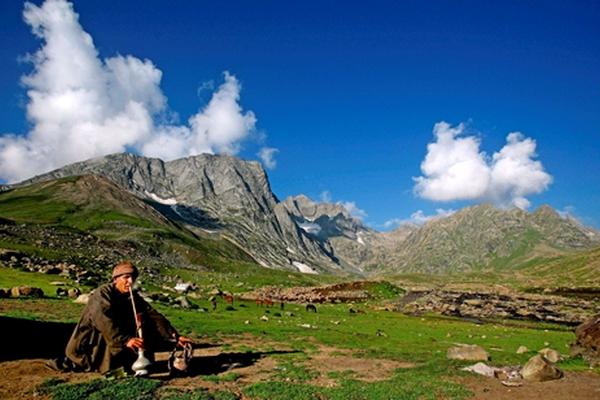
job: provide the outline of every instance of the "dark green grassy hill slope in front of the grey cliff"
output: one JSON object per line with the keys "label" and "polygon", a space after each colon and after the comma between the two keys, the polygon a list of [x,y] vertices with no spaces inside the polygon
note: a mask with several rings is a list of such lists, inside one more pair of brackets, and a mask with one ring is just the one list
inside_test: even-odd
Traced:
{"label": "dark green grassy hill slope in front of the grey cliff", "polygon": [[222,239],[199,237],[99,176],[68,177],[0,193],[0,247],[106,272],[131,259],[154,274],[163,266],[252,263]]}

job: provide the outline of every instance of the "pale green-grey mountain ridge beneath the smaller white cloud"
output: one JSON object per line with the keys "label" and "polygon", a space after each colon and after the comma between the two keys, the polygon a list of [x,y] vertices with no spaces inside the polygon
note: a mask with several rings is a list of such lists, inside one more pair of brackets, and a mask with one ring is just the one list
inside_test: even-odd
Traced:
{"label": "pale green-grey mountain ridge beneath the smaller white cloud", "polygon": [[527,213],[483,204],[429,221],[379,260],[386,271],[395,272],[509,268],[536,257],[589,249],[598,240],[596,232],[547,206]]}

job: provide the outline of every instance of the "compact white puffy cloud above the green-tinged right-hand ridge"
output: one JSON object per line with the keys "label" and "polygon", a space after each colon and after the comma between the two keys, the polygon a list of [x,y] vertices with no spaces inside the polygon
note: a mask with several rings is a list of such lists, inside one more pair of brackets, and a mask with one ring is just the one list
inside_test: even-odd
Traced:
{"label": "compact white puffy cloud above the green-tinged right-hand ridge", "polygon": [[526,196],[541,193],[552,177],[535,160],[536,142],[520,132],[509,133],[506,145],[491,158],[480,151],[480,140],[464,136],[465,126],[435,124],[436,141],[427,145],[421,163],[424,176],[415,179],[417,195],[435,201],[479,200],[499,207],[526,209]]}

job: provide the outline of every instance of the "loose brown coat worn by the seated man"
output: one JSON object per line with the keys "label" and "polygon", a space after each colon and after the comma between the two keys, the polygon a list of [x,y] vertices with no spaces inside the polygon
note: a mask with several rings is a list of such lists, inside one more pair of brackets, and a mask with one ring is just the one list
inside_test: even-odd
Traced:
{"label": "loose brown coat worn by the seated man", "polygon": [[[133,295],[141,314],[144,345],[152,351],[160,341],[177,335],[169,321],[137,293]],[[135,317],[129,294],[116,290],[113,283],[97,288],[83,310],[66,348],[66,356],[84,371],[107,372],[128,368],[136,354],[125,344],[136,336]]]}

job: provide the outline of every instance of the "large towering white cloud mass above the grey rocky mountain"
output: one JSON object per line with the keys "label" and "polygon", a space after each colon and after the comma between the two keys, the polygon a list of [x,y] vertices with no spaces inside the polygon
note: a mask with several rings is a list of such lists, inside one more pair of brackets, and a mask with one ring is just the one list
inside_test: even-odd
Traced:
{"label": "large towering white cloud mass above the grey rocky mountain", "polygon": [[241,85],[224,81],[185,125],[160,123],[169,113],[162,72],[131,55],[101,60],[72,4],[25,4],[24,21],[41,42],[22,78],[27,89],[25,135],[0,137],[0,179],[15,182],[62,165],[134,151],[164,160],[199,153],[236,154],[256,117],[239,104]]}

